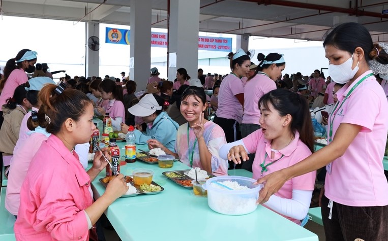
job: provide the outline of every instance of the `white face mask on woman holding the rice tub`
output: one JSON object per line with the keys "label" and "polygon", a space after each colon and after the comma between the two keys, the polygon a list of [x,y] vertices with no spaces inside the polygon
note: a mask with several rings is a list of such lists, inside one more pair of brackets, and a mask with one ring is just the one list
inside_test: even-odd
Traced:
{"label": "white face mask on woman holding the rice tub", "polygon": [[357,62],[354,70],[351,69],[351,66],[353,65],[353,54],[348,60],[339,65],[329,64],[329,75],[332,77],[334,82],[338,84],[346,84],[355,76],[355,73],[359,71],[360,62]]}

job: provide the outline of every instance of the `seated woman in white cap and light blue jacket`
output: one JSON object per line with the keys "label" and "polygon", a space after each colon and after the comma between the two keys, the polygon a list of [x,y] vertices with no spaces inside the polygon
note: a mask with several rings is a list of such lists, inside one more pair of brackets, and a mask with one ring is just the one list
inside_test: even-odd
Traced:
{"label": "seated woman in white cap and light blue jacket", "polygon": [[[173,121],[164,110],[169,103],[157,94],[146,94],[139,103],[128,109],[129,113],[139,116],[147,124],[145,133],[141,126],[135,130],[136,144],[147,144],[150,139],[156,139],[170,151],[174,150],[178,123]],[[128,126],[122,124],[122,131],[128,132]]]}

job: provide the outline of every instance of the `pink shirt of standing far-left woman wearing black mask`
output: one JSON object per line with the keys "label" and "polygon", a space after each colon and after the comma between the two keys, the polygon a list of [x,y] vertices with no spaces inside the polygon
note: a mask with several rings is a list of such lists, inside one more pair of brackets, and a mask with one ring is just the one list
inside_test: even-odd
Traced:
{"label": "pink shirt of standing far-left woman wearing black mask", "polygon": [[11,98],[15,92],[16,87],[21,84],[24,84],[28,81],[28,77],[23,70],[20,68],[15,68],[8,77],[2,93],[0,94],[0,107],[6,104],[8,98]]}

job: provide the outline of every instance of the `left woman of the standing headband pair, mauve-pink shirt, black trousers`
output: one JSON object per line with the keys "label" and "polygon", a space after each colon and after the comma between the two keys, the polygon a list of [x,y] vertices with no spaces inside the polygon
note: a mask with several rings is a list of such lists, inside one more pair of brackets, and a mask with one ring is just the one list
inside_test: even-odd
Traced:
{"label": "left woman of the standing headband pair, mauve-pink shirt, black trousers", "polygon": [[227,143],[241,139],[239,128],[244,106],[244,85],[241,78],[247,75],[251,65],[251,59],[242,49],[234,54],[229,53],[228,58],[232,72],[221,82],[218,109],[214,118],[214,123],[225,131]]}

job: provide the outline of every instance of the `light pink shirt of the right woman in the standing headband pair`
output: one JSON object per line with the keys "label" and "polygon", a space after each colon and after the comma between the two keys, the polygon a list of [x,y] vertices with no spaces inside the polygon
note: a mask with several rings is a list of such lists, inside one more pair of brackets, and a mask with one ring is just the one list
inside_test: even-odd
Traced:
{"label": "light pink shirt of the right woman in the standing headband pair", "polygon": [[264,94],[276,89],[276,83],[264,73],[258,73],[249,80],[244,87],[244,116],[243,123],[259,124],[259,99]]}

